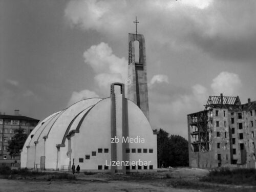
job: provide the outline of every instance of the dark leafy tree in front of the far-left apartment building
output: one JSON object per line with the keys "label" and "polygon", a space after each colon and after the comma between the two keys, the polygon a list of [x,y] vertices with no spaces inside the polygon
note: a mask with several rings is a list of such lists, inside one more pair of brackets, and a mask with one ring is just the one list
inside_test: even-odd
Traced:
{"label": "dark leafy tree in front of the far-left apartment building", "polygon": [[23,145],[28,137],[27,134],[23,133],[24,129],[19,128],[14,131],[15,135],[12,137],[10,141],[8,141],[8,152],[10,155],[19,154],[20,150],[22,150]]}

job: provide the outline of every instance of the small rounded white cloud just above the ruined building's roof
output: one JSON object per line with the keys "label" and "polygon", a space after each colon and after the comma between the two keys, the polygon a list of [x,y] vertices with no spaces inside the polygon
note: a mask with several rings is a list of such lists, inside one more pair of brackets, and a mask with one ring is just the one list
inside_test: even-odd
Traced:
{"label": "small rounded white cloud just above the ruined building's roof", "polygon": [[238,74],[229,72],[221,72],[216,78],[212,79],[211,83],[211,89],[215,95],[223,93],[227,96],[236,96],[241,86],[242,82]]}

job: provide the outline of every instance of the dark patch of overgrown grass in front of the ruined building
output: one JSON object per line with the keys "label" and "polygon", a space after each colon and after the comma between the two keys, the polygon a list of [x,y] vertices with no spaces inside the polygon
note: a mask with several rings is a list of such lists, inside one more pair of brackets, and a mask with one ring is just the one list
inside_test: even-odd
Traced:
{"label": "dark patch of overgrown grass in front of the ruined building", "polygon": [[200,181],[215,182],[221,184],[236,185],[256,185],[256,169],[255,168],[237,168],[230,169],[222,167],[211,170],[210,173],[201,178]]}

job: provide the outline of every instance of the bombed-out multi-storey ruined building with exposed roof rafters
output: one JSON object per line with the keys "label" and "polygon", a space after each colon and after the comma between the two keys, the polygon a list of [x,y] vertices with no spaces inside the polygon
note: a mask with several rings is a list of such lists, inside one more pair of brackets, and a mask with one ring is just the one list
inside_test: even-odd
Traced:
{"label": "bombed-out multi-storey ruined building with exposed roof rafters", "polygon": [[205,110],[187,115],[189,165],[256,167],[256,101],[209,96]]}

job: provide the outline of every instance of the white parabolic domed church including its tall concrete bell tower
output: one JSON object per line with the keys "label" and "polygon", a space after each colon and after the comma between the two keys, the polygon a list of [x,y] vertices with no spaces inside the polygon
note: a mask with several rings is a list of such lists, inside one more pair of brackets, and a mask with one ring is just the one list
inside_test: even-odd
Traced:
{"label": "white parabolic domed church including its tall concrete bell tower", "polygon": [[123,83],[112,83],[110,97],[81,100],[42,120],[24,144],[21,167],[61,170],[74,163],[90,172],[156,171],[157,137],[148,121],[141,34],[129,34],[128,68],[128,98]]}

